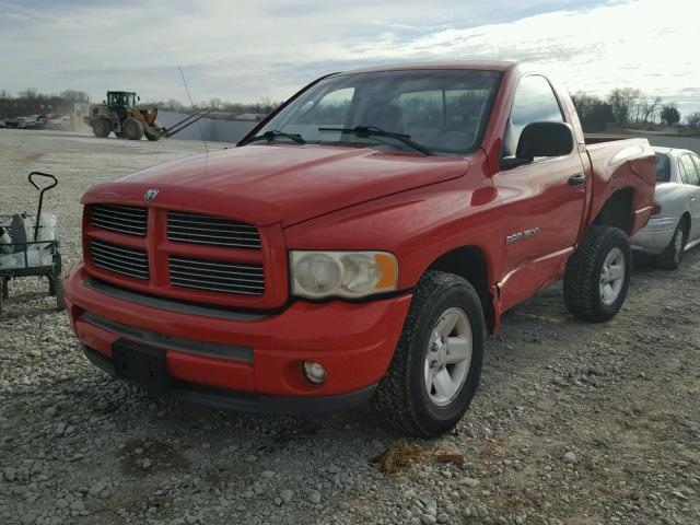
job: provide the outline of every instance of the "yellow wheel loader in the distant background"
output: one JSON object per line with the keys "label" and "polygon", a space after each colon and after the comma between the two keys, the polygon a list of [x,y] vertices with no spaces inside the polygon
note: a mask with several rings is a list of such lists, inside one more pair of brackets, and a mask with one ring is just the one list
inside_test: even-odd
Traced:
{"label": "yellow wheel loader in the distant background", "polygon": [[158,107],[142,109],[137,106],[137,101],[140,98],[136,93],[108,91],[106,103],[90,106],[90,114],[84,117],[85,124],[92,128],[95,137],[104,138],[114,132],[120,139],[141,140],[145,136],[149,140],[160,140],[161,137],[172,137],[212,112],[207,107],[198,109],[165,128],[155,120]]}

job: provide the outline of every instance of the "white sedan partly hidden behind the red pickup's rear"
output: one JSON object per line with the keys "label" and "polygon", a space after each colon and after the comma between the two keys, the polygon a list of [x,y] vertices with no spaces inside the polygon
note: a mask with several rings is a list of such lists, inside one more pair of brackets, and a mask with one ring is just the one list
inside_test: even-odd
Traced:
{"label": "white sedan partly hidden behind the red pickup's rear", "polygon": [[656,191],[649,223],[632,238],[632,248],[651,254],[673,270],[686,249],[700,244],[700,156],[688,150],[654,147]]}

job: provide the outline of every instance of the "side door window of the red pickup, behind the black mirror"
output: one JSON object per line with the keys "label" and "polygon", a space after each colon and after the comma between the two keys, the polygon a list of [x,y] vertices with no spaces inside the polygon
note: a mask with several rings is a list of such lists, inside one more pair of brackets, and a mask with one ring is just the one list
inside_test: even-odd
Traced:
{"label": "side door window of the red pickup, behind the black mirror", "polygon": [[517,84],[503,137],[502,156],[515,155],[523,128],[530,122],[541,121],[563,122],[564,118],[547,79],[533,74]]}

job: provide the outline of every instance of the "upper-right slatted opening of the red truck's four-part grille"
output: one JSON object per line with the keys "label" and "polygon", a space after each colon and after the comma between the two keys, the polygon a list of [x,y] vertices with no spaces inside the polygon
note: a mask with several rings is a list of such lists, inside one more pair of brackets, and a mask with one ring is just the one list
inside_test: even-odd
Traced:
{"label": "upper-right slatted opening of the red truck's four-part grille", "polygon": [[260,249],[253,224],[198,213],[167,212],[167,238],[177,243]]}

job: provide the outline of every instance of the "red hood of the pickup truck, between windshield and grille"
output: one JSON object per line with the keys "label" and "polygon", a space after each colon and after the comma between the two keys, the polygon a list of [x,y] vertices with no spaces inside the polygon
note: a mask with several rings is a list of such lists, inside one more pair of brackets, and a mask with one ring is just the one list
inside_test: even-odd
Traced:
{"label": "red hood of the pickup truck, between windshield and grille", "polygon": [[462,176],[462,158],[369,148],[252,144],[168,162],[91,188],[83,203],[149,206],[283,226]]}

